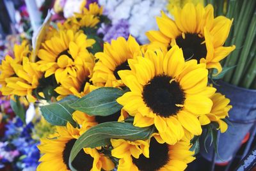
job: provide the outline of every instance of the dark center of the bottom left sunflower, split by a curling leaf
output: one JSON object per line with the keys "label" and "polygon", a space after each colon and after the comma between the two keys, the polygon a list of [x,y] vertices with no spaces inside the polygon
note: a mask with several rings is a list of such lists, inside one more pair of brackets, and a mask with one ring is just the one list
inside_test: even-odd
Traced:
{"label": "dark center of the bottom left sunflower, split by a curling leaf", "polygon": [[[63,151],[63,161],[65,165],[67,165],[68,170],[70,170],[68,166],[68,159],[70,156],[71,149],[75,144],[75,142],[76,142],[76,139],[69,140],[65,145],[65,149]],[[79,151],[74,161],[72,161],[72,166],[76,168],[76,170],[78,171],[84,171],[84,170],[90,171],[93,166],[93,158],[92,156],[90,156],[90,154],[86,154],[84,150],[81,149],[81,151]]]}

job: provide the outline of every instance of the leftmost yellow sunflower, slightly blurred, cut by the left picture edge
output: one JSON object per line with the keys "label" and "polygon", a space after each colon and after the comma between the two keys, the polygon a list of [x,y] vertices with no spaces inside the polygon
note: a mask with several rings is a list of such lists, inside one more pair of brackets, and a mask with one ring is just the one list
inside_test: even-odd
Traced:
{"label": "leftmost yellow sunflower, slightly blurred, cut by the left picture edge", "polygon": [[31,53],[27,41],[15,45],[13,50],[14,58],[6,56],[0,66],[1,92],[4,96],[26,96],[29,102],[35,102],[32,91],[38,87],[42,73],[38,64],[29,60]]}

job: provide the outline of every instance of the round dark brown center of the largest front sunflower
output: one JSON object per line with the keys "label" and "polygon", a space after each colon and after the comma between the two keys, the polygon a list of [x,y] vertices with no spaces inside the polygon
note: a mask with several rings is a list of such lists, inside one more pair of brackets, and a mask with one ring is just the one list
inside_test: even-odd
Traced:
{"label": "round dark brown center of the largest front sunflower", "polygon": [[162,117],[177,114],[182,108],[177,105],[183,105],[185,100],[179,82],[171,80],[172,77],[158,75],[143,87],[143,101],[155,114]]}

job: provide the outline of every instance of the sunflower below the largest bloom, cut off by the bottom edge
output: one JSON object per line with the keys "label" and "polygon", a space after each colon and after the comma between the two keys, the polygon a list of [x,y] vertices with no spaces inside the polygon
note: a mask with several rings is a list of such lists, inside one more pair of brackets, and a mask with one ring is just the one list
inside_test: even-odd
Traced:
{"label": "sunflower below the largest bloom, cut off by the bottom edge", "polygon": [[111,139],[112,156],[119,158],[118,171],[122,170],[185,170],[195,160],[191,145],[186,141],[168,145],[158,138],[134,142]]}

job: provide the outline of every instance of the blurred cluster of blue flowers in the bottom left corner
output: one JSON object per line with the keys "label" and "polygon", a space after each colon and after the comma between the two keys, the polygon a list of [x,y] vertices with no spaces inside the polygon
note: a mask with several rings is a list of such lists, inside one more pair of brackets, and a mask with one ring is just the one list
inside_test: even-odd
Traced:
{"label": "blurred cluster of blue flowers in the bottom left corner", "polygon": [[32,123],[24,126],[18,117],[6,124],[4,137],[0,139],[0,168],[35,170],[40,152],[36,147],[38,141],[31,138],[32,130]]}

